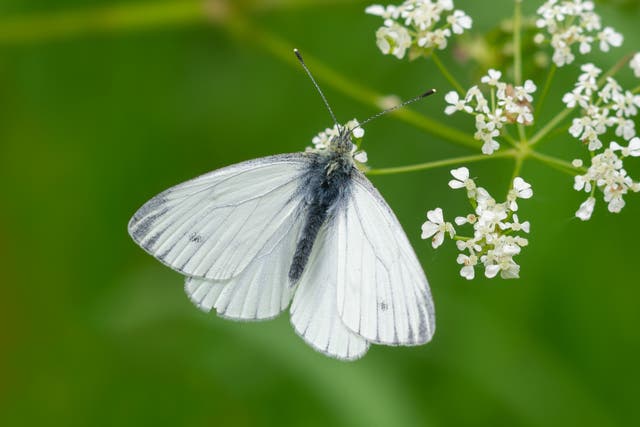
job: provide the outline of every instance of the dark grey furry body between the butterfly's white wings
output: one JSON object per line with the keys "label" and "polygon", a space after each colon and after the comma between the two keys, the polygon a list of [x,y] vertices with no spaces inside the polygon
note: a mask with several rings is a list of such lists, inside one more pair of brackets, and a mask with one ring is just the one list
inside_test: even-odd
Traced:
{"label": "dark grey furry body between the butterfly's white wings", "polygon": [[356,171],[350,154],[329,151],[311,154],[308,170],[298,191],[304,194],[305,224],[289,268],[291,285],[298,282],[309,261],[313,244],[323,224],[332,221],[351,191]]}

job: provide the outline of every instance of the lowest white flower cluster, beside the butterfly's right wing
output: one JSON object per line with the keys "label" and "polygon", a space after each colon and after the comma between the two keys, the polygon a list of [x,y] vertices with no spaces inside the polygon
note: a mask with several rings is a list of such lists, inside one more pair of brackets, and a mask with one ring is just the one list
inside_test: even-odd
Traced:
{"label": "lowest white flower cluster, beside the butterfly's right wing", "polygon": [[466,189],[474,207],[473,213],[457,217],[455,223],[458,226],[472,225],[473,237],[457,235],[453,224],[444,220],[442,209],[436,208],[427,212],[427,221],[422,225],[422,238],[431,238],[434,248],[442,244],[447,234],[455,239],[461,252],[457,258],[458,264],[462,265],[460,275],[467,280],[475,277],[475,268],[479,264],[484,266],[484,275],[488,278],[494,278],[498,273],[503,279],[518,278],[520,265],[513,257],[529,244],[518,233],[529,233],[531,225],[529,221],[520,222],[515,212],[518,210],[518,199],[533,196],[531,185],[520,177],[515,178],[507,200],[497,203],[487,190],[476,186],[469,177],[469,169],[454,169],[451,175],[454,179],[449,182],[449,187]]}

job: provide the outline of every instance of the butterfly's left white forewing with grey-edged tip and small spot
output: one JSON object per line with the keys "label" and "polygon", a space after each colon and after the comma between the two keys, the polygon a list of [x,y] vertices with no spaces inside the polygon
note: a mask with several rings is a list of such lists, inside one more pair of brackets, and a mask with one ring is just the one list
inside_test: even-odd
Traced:
{"label": "butterfly's left white forewing with grey-edged tip and small spot", "polygon": [[299,216],[307,162],[304,154],[265,157],[179,184],[142,206],[129,233],[174,270],[229,279]]}

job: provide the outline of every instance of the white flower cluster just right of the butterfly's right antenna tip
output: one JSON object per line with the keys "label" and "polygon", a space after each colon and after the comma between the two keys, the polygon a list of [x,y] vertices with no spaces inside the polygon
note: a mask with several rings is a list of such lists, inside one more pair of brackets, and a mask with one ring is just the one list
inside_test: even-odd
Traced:
{"label": "white flower cluster just right of the butterfly's right antenna tip", "polygon": [[536,91],[536,85],[527,80],[523,86],[512,86],[500,81],[502,73],[497,70],[489,70],[482,77],[481,82],[489,87],[490,99],[487,99],[478,86],[473,86],[460,98],[457,92],[449,92],[445,95],[445,101],[449,104],[444,112],[451,115],[456,111],[464,111],[476,118],[476,133],[474,138],[481,141],[482,152],[493,154],[500,144],[496,138],[500,136],[505,124],[518,123],[531,125],[533,123],[533,111],[531,103],[532,94]]}

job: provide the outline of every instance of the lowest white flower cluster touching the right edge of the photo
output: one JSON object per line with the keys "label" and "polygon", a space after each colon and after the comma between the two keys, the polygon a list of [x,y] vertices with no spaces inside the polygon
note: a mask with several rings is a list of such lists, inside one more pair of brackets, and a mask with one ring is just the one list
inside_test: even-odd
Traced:
{"label": "lowest white flower cluster touching the right edge of the photo", "polygon": [[[625,205],[623,198],[625,194],[629,191],[634,193],[640,191],[640,183],[634,181],[624,169],[623,159],[629,156],[640,157],[640,138],[633,138],[626,147],[612,142],[609,148],[593,156],[591,166],[584,175],[575,177],[573,188],[590,193],[576,212],[578,218],[583,221],[591,218],[596,204],[594,197],[596,188],[604,194],[604,201],[608,203],[609,212],[612,213],[622,210]],[[573,165],[581,167],[582,161],[574,160]]]}

